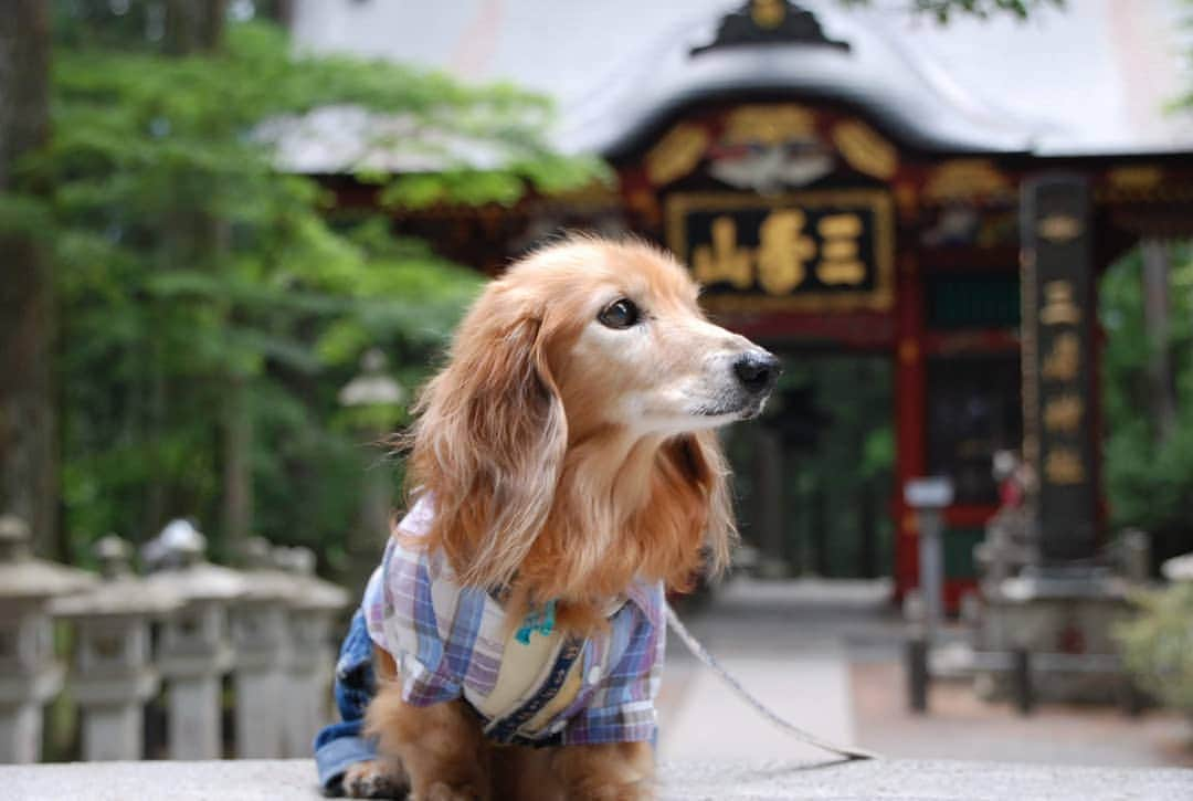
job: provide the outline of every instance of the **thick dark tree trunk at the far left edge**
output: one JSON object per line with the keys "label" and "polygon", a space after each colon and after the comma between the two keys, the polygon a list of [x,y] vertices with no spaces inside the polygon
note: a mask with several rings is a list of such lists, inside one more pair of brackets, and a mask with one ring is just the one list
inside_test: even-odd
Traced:
{"label": "thick dark tree trunk at the far left edge", "polygon": [[[0,192],[18,189],[16,166],[47,140],[49,62],[49,4],[5,4],[0,14]],[[55,555],[52,267],[29,233],[0,233],[0,511],[27,520],[35,549]]]}

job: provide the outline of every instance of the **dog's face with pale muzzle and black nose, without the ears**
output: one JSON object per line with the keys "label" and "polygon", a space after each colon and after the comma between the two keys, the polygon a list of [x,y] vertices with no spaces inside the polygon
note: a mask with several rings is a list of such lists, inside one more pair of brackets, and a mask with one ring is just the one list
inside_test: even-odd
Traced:
{"label": "dog's face with pale muzzle and black nose, without the ears", "polygon": [[568,335],[549,345],[573,437],[591,426],[672,436],[756,415],[778,361],[705,320],[674,259],[643,245],[546,251],[507,281],[536,289]]}

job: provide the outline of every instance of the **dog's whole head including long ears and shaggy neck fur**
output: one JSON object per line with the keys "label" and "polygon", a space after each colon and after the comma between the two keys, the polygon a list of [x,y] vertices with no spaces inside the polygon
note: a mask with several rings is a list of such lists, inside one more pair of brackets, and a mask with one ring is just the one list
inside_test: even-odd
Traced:
{"label": "dog's whole head including long ears and shaggy neck fur", "polygon": [[779,364],[709,322],[697,294],[669,255],[593,239],[489,284],[420,399],[410,462],[465,581],[682,583],[701,543],[723,565],[733,520],[711,429],[759,414]]}

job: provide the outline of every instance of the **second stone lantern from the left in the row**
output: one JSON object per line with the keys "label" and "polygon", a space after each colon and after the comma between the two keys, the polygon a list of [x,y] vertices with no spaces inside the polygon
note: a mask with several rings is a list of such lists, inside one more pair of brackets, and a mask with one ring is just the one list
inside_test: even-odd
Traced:
{"label": "second stone lantern from the left in the row", "polygon": [[142,759],[142,708],[159,685],[149,627],[181,600],[162,583],[132,574],[124,540],[109,535],[94,553],[104,581],[51,605],[75,623],[70,689],[82,711],[82,758]]}

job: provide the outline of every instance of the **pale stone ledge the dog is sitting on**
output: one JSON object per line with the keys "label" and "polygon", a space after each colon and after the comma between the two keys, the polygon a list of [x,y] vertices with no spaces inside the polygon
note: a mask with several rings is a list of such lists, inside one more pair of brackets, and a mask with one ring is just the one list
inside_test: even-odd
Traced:
{"label": "pale stone ledge the dog is sitting on", "polygon": [[[1193,770],[884,759],[855,763],[676,763],[660,797],[682,799],[1193,799]],[[308,759],[0,765],[5,799],[319,799]]]}

